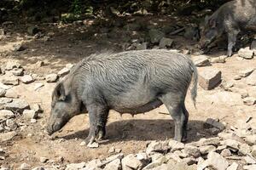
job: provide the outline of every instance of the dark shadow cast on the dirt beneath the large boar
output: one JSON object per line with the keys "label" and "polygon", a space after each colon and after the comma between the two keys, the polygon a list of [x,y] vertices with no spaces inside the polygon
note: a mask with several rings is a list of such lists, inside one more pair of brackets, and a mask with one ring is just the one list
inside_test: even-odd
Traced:
{"label": "dark shadow cast on the dirt beneath the large boar", "polygon": [[[211,134],[203,128],[201,121],[189,121],[188,141],[198,141],[201,138],[210,138]],[[201,133],[202,135],[198,135]],[[85,139],[89,134],[89,129],[62,136],[63,139]],[[147,141],[173,139],[174,122],[172,120],[125,120],[111,122],[107,126],[107,143],[119,141]]]}

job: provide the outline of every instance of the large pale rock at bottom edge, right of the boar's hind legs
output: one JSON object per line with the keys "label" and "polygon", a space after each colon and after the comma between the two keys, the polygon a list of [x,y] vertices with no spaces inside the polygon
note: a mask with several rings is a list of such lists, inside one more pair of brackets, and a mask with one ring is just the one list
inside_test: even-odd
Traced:
{"label": "large pale rock at bottom edge, right of the boar's hind legs", "polygon": [[218,170],[226,170],[229,167],[229,162],[216,152],[210,152],[207,156],[207,162],[209,166]]}

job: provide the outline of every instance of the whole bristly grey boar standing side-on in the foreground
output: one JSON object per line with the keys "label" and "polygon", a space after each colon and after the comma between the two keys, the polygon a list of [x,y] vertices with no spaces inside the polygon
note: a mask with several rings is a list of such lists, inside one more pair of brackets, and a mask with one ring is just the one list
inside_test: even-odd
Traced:
{"label": "whole bristly grey boar standing side-on in the foreground", "polygon": [[47,131],[55,133],[85,109],[90,118],[86,142],[92,143],[104,137],[109,110],[137,114],[164,104],[175,122],[174,139],[185,140],[189,112],[184,100],[193,82],[195,104],[197,79],[189,56],[164,49],[94,55],[57,83]]}

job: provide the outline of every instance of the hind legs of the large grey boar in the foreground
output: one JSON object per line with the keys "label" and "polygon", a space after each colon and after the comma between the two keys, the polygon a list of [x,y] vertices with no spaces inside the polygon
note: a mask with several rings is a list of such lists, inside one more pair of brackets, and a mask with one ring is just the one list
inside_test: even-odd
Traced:
{"label": "hind legs of the large grey boar in the foreground", "polygon": [[183,112],[183,98],[179,94],[165,94],[160,99],[166,105],[174,121],[174,139],[181,142],[183,140],[183,128],[187,127],[186,123],[188,122],[188,114]]}

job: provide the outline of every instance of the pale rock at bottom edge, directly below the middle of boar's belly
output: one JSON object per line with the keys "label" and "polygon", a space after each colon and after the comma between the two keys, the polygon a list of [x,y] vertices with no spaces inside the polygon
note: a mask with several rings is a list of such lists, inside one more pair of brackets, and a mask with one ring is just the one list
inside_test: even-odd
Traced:
{"label": "pale rock at bottom edge, directly below the middle of boar's belly", "polygon": [[139,169],[143,167],[143,163],[136,156],[130,154],[122,159],[123,170]]}

